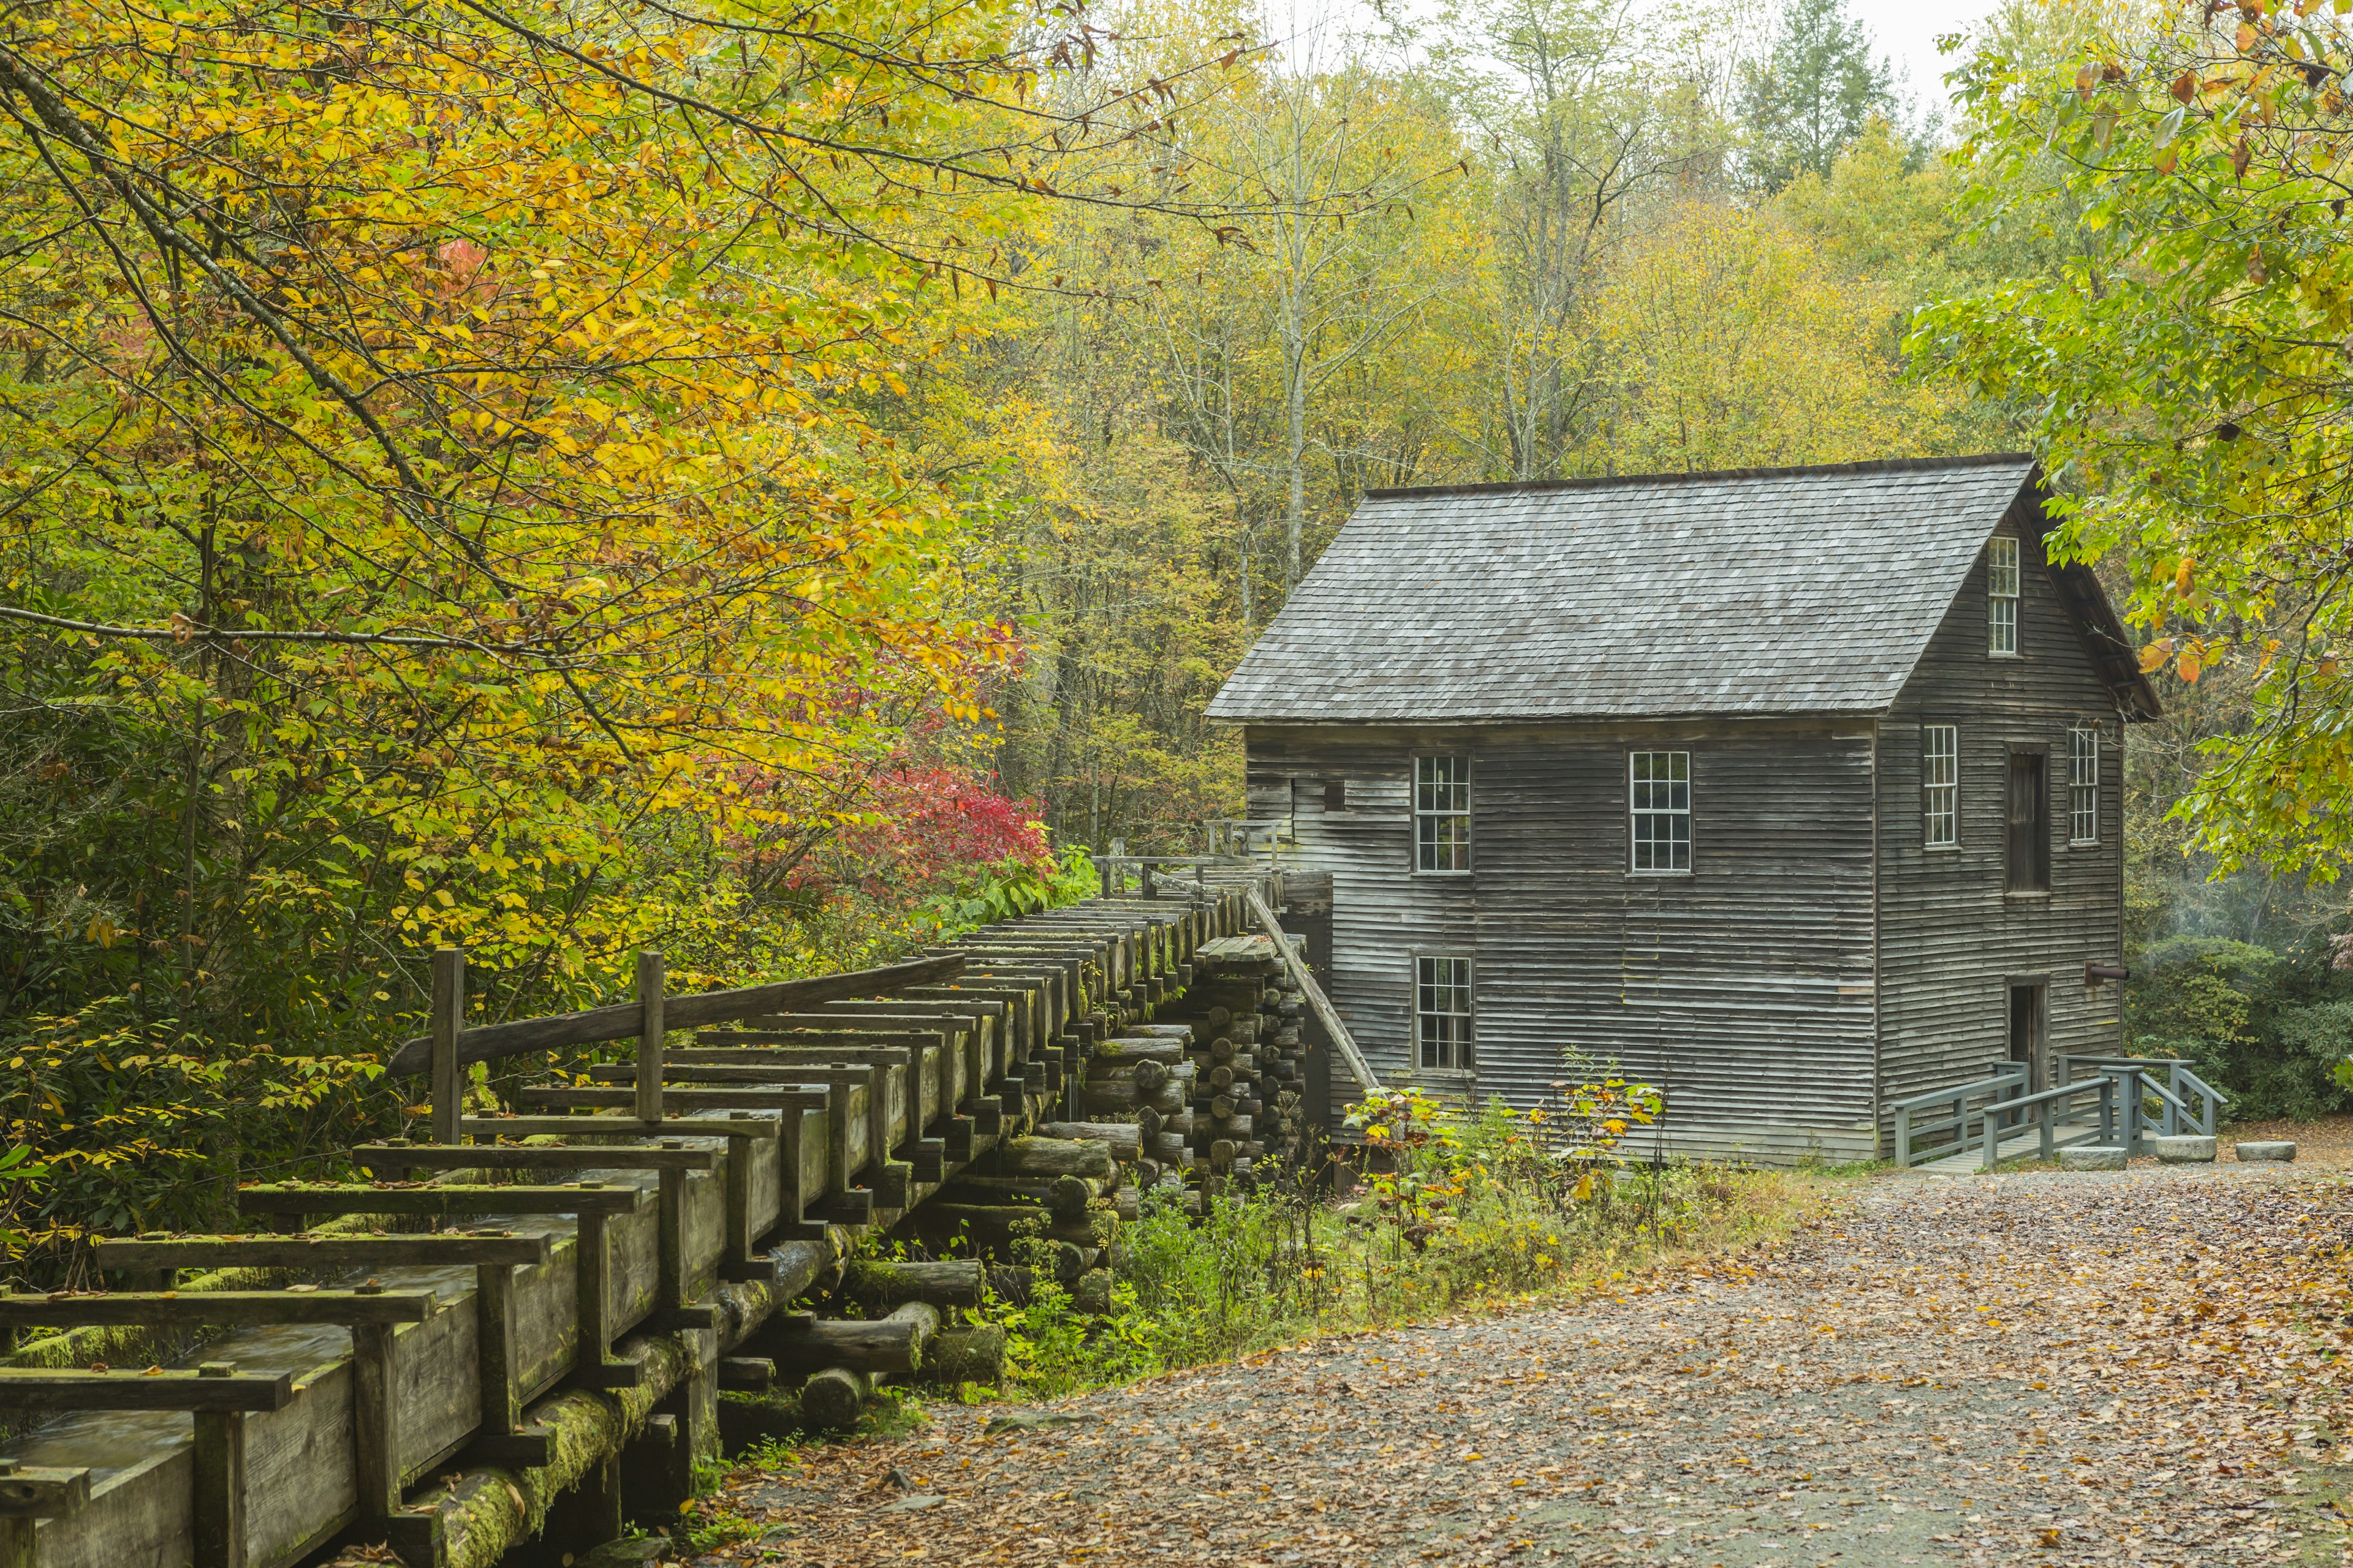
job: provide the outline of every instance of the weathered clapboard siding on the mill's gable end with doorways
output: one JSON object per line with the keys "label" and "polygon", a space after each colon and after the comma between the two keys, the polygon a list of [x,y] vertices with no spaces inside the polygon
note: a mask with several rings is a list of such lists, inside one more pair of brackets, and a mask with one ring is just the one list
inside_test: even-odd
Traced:
{"label": "weathered clapboard siding on the mill's gable end with doorways", "polygon": [[[2019,656],[1986,651],[1986,557],[1977,559],[1882,724],[1880,1060],[1889,1100],[1981,1077],[2009,1053],[2009,983],[2045,978],[2052,1060],[2118,1051],[2115,985],[2085,987],[2085,961],[2120,961],[2125,722],[2042,557],[2042,520],[2021,496],[2000,524],[2019,538]],[[1960,736],[1960,846],[1925,849],[1920,726]],[[2066,741],[2099,724],[2099,844],[2068,844]],[[2049,748],[2047,898],[2005,891],[2009,745]]]}

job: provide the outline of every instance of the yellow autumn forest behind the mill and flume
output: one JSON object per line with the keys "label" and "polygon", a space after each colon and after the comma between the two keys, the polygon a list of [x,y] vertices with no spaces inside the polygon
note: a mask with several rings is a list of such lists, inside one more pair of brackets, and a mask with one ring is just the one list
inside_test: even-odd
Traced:
{"label": "yellow autumn forest behind the mill and flume", "polygon": [[[440,943],[501,1018],[1198,846],[1202,708],[1367,487],[2049,442],[2033,331],[1939,301],[2111,244],[2002,115],[2122,7],[1998,7],[1951,125],[1838,0],[339,16],[0,24],[21,1239],[395,1126]],[[2188,557],[2087,541],[2160,630]],[[2259,663],[2153,656],[2132,1016],[2315,1114],[2341,898],[2181,811]]]}

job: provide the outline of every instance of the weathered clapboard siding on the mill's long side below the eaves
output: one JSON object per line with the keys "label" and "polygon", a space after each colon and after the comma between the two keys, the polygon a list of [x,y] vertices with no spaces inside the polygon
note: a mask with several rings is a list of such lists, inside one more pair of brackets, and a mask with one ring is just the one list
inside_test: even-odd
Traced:
{"label": "weathered clapboard siding on the mill's long side below the eaves", "polygon": [[[1537,1103],[1565,1053],[1668,1093],[1668,1145],[1873,1145],[1866,724],[1252,729],[1252,809],[1297,804],[1329,870],[1334,1004],[1414,1074],[1414,954],[1473,959],[1480,1095]],[[1628,872],[1626,755],[1692,752],[1692,875]],[[1473,870],[1412,870],[1417,752],[1473,759]],[[1325,809],[1344,778],[1348,806]]]}

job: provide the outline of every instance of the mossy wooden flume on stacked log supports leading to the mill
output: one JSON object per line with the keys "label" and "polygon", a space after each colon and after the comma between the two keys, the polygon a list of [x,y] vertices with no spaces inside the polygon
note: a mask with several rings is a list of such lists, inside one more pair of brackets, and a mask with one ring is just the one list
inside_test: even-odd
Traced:
{"label": "mossy wooden flume on stacked log supports leading to the mill", "polygon": [[[45,1335],[0,1361],[0,1568],[569,1561],[678,1516],[722,1387],[840,1422],[880,1380],[993,1375],[1002,1335],[955,1321],[991,1253],[1042,1237],[1085,1300],[1139,1185],[1299,1147],[1301,1001],[1249,886],[1280,903],[1278,875],[1089,900],[736,992],[664,994],[647,954],[633,1004],[475,1030],[445,954],[393,1060],[433,1140],[240,1190],[259,1234],[108,1239],[104,1295],[0,1298],[7,1347]],[[635,1051],[459,1114],[471,1060],[607,1041]],[[965,1260],[849,1272],[882,1232]]]}

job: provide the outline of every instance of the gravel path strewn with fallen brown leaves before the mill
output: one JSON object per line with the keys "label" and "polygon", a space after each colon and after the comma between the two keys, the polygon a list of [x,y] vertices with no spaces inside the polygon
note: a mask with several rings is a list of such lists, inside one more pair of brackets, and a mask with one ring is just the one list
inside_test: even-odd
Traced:
{"label": "gravel path strewn with fallen brown leaves before the mill", "polygon": [[2348,1218],[2341,1178],[2238,1166],[1878,1178],[1624,1298],[946,1406],[741,1472],[718,1507],[767,1528],[727,1556],[2353,1561],[2353,1448],[2339,1469],[2329,1446]]}

